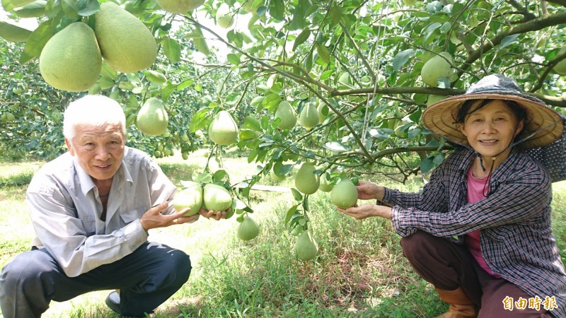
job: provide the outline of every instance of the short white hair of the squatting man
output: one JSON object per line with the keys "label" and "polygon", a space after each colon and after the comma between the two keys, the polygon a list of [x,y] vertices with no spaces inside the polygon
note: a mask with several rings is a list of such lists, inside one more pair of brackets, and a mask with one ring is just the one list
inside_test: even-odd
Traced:
{"label": "short white hair of the squatting man", "polygon": [[119,124],[123,136],[126,136],[126,116],[122,106],[103,95],[86,95],[69,104],[63,119],[65,138],[71,141],[75,135],[75,127],[79,124]]}

